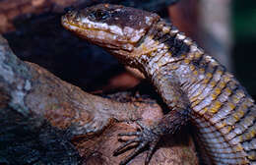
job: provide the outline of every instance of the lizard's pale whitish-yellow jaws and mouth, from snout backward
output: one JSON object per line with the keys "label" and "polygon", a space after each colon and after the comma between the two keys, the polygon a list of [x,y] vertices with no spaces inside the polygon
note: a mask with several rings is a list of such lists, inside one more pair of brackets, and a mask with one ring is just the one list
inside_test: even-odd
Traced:
{"label": "lizard's pale whitish-yellow jaws and mouth, from snout backward", "polygon": [[98,46],[132,51],[134,43],[122,35],[120,27],[109,27],[77,16],[75,12],[62,16],[62,26]]}

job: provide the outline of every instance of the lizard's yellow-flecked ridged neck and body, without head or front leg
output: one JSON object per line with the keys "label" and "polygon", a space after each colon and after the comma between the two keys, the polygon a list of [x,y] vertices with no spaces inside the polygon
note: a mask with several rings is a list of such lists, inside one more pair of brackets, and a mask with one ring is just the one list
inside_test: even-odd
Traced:
{"label": "lizard's yellow-flecked ridged neck and body, without head or front leg", "polygon": [[[171,25],[158,24],[149,33],[153,40],[149,42],[163,45],[143,55],[141,63],[167,104],[171,104],[167,84],[175,75],[190,102],[191,122],[197,127],[198,144],[206,152],[208,164],[256,164],[254,100],[224,66],[190,38]],[[173,57],[177,62],[173,63]]]}

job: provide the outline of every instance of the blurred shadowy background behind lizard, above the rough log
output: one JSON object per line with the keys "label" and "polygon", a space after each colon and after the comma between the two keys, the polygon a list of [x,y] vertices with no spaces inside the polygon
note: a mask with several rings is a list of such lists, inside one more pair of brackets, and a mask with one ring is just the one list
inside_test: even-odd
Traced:
{"label": "blurred shadowy background behind lizard, above the rough log", "polygon": [[247,0],[173,1],[0,1],[0,30],[22,60],[46,68],[87,91],[125,89],[139,80],[100,48],[73,36],[60,25],[64,8],[84,8],[99,2],[134,6],[157,12],[218,58],[256,95],[254,45],[256,2]]}

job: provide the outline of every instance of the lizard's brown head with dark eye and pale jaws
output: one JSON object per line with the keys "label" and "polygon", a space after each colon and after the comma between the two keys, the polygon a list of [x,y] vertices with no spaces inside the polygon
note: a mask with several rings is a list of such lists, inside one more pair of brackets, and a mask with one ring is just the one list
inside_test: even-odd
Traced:
{"label": "lizard's brown head with dark eye and pale jaws", "polygon": [[62,26],[82,38],[106,48],[121,62],[134,61],[134,49],[160,17],[150,12],[120,5],[99,4],[68,11]]}

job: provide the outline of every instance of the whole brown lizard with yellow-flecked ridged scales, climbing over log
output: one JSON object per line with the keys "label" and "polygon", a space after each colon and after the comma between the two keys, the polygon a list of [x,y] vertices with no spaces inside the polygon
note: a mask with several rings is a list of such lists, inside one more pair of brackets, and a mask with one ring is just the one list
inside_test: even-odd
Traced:
{"label": "whole brown lizard with yellow-flecked ridged scales, climbing over log", "polygon": [[101,4],[69,11],[62,25],[105,48],[125,65],[137,68],[156,86],[169,108],[159,123],[132,142],[139,145],[120,164],[149,146],[146,164],[161,136],[174,134],[189,121],[198,130],[206,164],[256,164],[256,106],[246,90],[216,59],[157,14]]}

